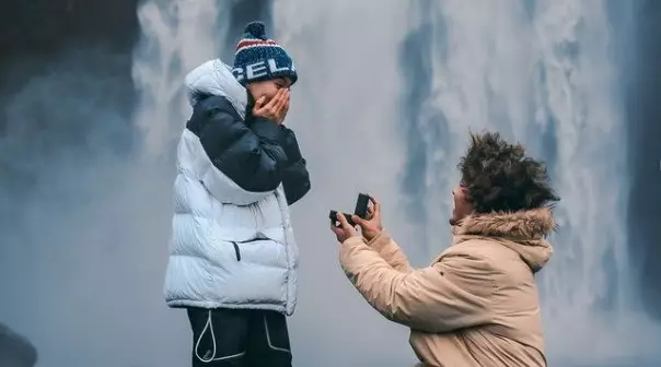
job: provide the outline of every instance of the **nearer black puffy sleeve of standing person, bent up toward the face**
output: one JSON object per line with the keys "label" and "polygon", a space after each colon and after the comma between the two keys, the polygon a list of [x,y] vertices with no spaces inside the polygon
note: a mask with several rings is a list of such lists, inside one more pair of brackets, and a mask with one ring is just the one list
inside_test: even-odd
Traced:
{"label": "nearer black puffy sleeve of standing person, bent up toward the face", "polygon": [[282,181],[288,159],[275,122],[256,118],[248,128],[228,99],[214,96],[196,105],[187,128],[213,165],[242,189],[270,191]]}

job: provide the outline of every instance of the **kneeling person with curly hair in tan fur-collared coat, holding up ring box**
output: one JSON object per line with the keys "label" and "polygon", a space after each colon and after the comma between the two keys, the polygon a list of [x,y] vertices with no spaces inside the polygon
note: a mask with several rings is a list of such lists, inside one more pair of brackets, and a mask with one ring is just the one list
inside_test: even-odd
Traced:
{"label": "kneeling person with curly hair in tan fur-collared coat, holding up ring box", "polygon": [[452,246],[415,270],[373,201],[362,236],[339,214],[340,263],[367,301],[410,328],[424,366],[546,366],[534,273],[548,261],[559,198],[544,165],[498,133],[472,135],[454,189]]}

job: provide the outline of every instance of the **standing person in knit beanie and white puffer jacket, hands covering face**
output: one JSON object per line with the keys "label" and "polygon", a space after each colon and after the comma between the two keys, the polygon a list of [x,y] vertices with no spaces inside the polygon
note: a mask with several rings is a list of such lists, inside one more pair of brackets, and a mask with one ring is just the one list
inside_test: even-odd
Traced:
{"label": "standing person in knit beanie and white puffer jacket, hands covering face", "polygon": [[289,205],[310,190],[283,126],[297,79],[256,22],[233,70],[216,59],[186,76],[193,116],[178,145],[165,298],[187,309],[194,367],[291,366],[286,316],[299,260]]}

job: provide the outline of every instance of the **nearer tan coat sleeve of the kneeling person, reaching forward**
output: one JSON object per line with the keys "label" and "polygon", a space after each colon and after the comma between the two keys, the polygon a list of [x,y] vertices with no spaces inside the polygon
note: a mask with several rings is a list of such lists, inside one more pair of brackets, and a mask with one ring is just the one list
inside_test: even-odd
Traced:
{"label": "nearer tan coat sleeve of the kneeling person, reaching forward", "polygon": [[488,322],[494,271],[469,254],[448,256],[426,269],[393,269],[362,238],[341,245],[340,263],[366,300],[387,319],[427,332]]}

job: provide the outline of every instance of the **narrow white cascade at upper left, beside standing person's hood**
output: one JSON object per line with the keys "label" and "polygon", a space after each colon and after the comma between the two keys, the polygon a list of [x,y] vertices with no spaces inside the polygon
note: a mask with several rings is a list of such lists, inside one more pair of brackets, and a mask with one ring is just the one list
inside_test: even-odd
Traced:
{"label": "narrow white cascade at upper left, beside standing person's hood", "polygon": [[148,0],[138,8],[142,29],[132,75],[140,93],[135,118],[143,131],[146,157],[172,151],[189,116],[185,75],[216,58],[225,42],[231,1]]}

